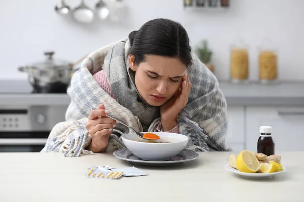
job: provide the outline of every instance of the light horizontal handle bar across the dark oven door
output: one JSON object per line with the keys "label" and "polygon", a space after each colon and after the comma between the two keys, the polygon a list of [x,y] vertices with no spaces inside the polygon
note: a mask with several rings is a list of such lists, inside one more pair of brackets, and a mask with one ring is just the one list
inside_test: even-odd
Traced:
{"label": "light horizontal handle bar across the dark oven door", "polygon": [[0,145],[45,145],[45,138],[0,138]]}

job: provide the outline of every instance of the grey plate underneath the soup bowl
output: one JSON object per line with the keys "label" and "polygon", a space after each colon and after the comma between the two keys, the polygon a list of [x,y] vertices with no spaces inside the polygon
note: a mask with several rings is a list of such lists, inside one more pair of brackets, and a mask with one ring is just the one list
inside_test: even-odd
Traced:
{"label": "grey plate underneath the soup bowl", "polygon": [[195,160],[199,154],[192,150],[184,149],[178,155],[168,161],[145,161],[131,153],[127,148],[114,151],[113,155],[121,160],[132,162],[133,164],[143,166],[174,166],[184,162]]}

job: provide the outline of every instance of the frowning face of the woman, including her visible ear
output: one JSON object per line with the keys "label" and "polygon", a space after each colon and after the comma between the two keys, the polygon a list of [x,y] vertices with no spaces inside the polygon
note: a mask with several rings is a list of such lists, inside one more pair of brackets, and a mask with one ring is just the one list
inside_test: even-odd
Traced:
{"label": "frowning face of the woman, including her visible ear", "polygon": [[178,58],[146,55],[138,66],[129,57],[130,68],[135,71],[135,85],[139,94],[152,106],[161,106],[179,90],[186,65]]}

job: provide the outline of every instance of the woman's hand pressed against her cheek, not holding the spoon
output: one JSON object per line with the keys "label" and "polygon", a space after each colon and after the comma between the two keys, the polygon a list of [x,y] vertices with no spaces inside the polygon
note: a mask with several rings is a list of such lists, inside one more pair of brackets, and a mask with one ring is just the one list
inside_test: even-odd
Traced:
{"label": "woman's hand pressed against her cheek, not holding the spoon", "polygon": [[172,128],[174,128],[177,125],[176,117],[178,113],[187,105],[190,89],[191,89],[191,83],[189,80],[188,71],[186,71],[185,75],[182,77],[181,87],[179,88],[175,96],[172,97],[167,103],[165,103],[160,107],[161,122],[163,129],[165,129],[166,125],[168,125],[168,127],[166,127],[167,130],[168,128],[172,127],[172,126],[169,127],[169,125],[175,124]]}

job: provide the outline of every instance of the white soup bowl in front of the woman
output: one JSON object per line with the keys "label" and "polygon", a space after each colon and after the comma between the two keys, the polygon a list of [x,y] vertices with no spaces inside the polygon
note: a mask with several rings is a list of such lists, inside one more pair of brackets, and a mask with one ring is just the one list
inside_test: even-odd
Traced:
{"label": "white soup bowl in front of the woman", "polygon": [[[170,143],[149,143],[138,142],[147,141],[138,137],[135,133],[122,136],[122,140],[132,154],[142,160],[147,161],[166,161],[178,155],[187,145],[189,138],[185,135],[168,132],[153,132],[160,136],[156,141],[170,141]],[[169,138],[169,139],[168,139]],[[170,139],[173,138],[173,139]],[[174,141],[172,141],[174,140]]]}

